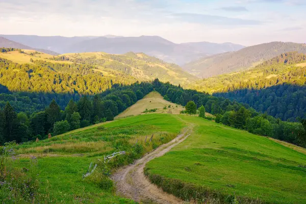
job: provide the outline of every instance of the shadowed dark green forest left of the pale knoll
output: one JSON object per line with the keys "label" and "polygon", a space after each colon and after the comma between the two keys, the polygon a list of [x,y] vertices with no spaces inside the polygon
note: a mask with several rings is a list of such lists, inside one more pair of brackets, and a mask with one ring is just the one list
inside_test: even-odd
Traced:
{"label": "shadowed dark green forest left of the pale knoll", "polygon": [[114,116],[152,90],[152,84],[146,82],[130,86],[114,85],[101,94],[91,97],[84,95],[77,103],[71,98],[64,110],[53,99],[43,111],[38,110],[39,112],[31,115],[15,111],[7,102],[0,109],[0,143],[44,139],[48,133],[58,135],[90,124],[113,120]]}

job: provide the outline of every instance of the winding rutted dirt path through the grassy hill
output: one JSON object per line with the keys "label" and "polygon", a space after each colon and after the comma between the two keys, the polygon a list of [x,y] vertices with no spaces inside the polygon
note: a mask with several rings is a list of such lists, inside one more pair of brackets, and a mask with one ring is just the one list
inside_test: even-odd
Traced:
{"label": "winding rutted dirt path through the grassy hill", "polygon": [[175,145],[183,142],[191,132],[187,129],[184,133],[177,136],[167,144],[159,146],[155,151],[150,152],[135,163],[125,166],[112,175],[112,180],[115,181],[117,194],[127,198],[131,198],[137,202],[151,201],[154,203],[184,203],[183,200],[174,195],[165,193],[156,185],[151,184],[143,173],[145,164],[150,160],[161,157]]}

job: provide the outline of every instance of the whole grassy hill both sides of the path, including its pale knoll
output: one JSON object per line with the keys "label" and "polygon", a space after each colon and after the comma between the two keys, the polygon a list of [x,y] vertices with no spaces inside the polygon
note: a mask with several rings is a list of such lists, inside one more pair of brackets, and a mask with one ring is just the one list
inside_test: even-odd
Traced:
{"label": "whole grassy hill both sides of the path, including its pale knoll", "polygon": [[[151,92],[119,117],[165,104],[174,106]],[[209,196],[221,203],[235,199],[240,203],[305,203],[305,149],[203,118],[162,112],[119,118],[11,146],[14,155],[5,165],[12,175],[8,177],[14,179],[11,186],[2,186],[0,199],[18,199],[19,203],[33,199],[40,203],[135,203],[115,195],[108,176],[189,126],[193,130],[184,142],[146,166],[149,179],[165,191],[185,200],[196,195],[194,198]],[[152,134],[152,141],[145,142]],[[125,155],[104,163],[104,156],[123,150]],[[97,164],[96,170],[82,179],[90,163]],[[31,190],[23,188],[24,184]],[[8,191],[10,187],[15,190]]]}

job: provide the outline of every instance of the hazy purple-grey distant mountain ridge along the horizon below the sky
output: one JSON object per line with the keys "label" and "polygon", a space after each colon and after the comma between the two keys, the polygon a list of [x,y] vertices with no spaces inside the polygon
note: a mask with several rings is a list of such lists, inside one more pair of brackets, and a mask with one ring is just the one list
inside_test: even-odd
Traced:
{"label": "hazy purple-grey distant mountain ridge along the horizon below the sky", "polygon": [[201,57],[232,52],[244,48],[233,43],[190,42],[176,44],[159,36],[35,36],[35,35],[0,35],[9,40],[30,47],[54,50],[57,53],[106,52],[124,54],[127,52],[145,53],[166,62],[186,64]]}

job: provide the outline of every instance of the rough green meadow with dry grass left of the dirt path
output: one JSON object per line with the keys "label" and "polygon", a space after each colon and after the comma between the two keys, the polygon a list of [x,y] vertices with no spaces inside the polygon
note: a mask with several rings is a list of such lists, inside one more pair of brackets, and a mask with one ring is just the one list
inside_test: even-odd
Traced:
{"label": "rough green meadow with dry grass left of the dirt path", "polygon": [[[31,181],[37,180],[35,198],[33,201],[33,196],[29,195],[31,198],[27,199],[26,194],[31,192],[23,192],[19,188],[19,192],[13,191],[9,197],[0,192],[0,200],[5,203],[16,200],[17,203],[134,203],[116,196],[114,184],[105,174],[169,142],[184,126],[177,116],[149,114],[17,145],[14,147],[17,159],[8,164],[8,170],[13,167],[17,170],[29,169],[23,173],[25,175],[14,175],[15,181],[18,179],[21,182],[27,177],[31,177]],[[148,142],[152,134],[152,142]],[[148,139],[144,142],[146,136]],[[105,166],[104,156],[119,150],[125,150],[126,154],[110,160]],[[83,179],[82,175],[91,162],[98,164],[96,174]],[[20,195],[22,192],[23,195]]]}

